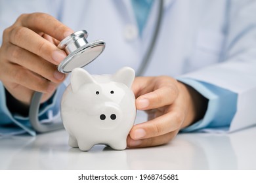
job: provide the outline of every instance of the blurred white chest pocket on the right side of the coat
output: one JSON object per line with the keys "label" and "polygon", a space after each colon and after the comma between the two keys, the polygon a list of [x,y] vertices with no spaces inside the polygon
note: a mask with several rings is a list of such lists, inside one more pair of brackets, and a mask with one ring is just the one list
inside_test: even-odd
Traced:
{"label": "blurred white chest pocket on the right side of the coat", "polygon": [[221,32],[201,30],[192,48],[189,61],[191,71],[219,62],[223,41],[224,35]]}

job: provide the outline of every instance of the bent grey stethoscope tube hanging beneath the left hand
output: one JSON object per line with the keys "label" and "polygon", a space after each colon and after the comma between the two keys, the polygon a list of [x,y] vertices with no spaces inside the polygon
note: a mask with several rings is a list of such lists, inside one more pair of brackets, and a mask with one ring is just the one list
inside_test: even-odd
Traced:
{"label": "bent grey stethoscope tube hanging beneath the left hand", "polygon": [[30,104],[29,118],[30,124],[32,125],[33,129],[35,129],[35,131],[37,131],[38,133],[45,133],[49,131],[63,129],[64,125],[61,121],[51,124],[41,124],[39,122],[38,114],[42,95],[43,93],[40,92],[33,93],[32,103]]}

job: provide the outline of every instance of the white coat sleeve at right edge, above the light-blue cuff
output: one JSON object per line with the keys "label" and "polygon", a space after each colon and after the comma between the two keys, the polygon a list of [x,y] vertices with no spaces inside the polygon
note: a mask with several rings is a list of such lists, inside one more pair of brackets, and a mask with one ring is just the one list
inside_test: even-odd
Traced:
{"label": "white coat sleeve at right edge, above the light-blue cuff", "polygon": [[[231,1],[223,63],[182,76],[224,88],[237,95],[230,131],[255,124],[256,20],[255,1]],[[245,120],[246,119],[246,120]]]}

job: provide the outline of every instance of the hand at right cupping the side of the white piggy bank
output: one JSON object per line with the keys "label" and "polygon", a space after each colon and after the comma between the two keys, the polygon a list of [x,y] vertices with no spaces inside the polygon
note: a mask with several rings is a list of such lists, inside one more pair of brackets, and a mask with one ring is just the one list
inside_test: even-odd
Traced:
{"label": "hand at right cupping the side of the white piggy bank", "polygon": [[200,120],[207,99],[169,76],[138,77],[133,82],[136,107],[148,113],[148,122],[134,125],[127,137],[130,148],[158,146],[180,129]]}

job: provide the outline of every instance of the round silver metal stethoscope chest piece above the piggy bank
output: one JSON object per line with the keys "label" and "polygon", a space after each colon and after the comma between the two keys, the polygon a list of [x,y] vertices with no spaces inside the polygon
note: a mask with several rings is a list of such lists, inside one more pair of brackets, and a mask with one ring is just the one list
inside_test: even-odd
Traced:
{"label": "round silver metal stethoscope chest piece above the piggy bank", "polygon": [[91,63],[91,61],[103,52],[105,48],[104,41],[96,40],[89,43],[87,37],[87,31],[77,31],[58,44],[58,48],[68,54],[60,65],[58,65],[58,71],[61,73],[70,73],[77,67],[84,67]]}

